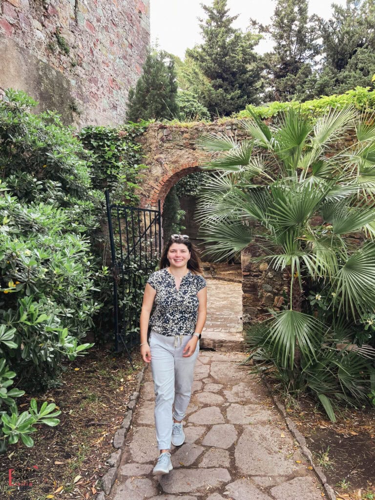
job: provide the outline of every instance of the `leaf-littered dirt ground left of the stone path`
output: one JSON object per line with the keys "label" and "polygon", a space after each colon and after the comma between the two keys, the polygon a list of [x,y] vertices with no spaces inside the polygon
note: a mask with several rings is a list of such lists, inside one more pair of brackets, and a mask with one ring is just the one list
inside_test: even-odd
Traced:
{"label": "leaf-littered dirt ground left of the stone path", "polygon": [[[100,477],[108,468],[105,460],[114,450],[113,435],[143,362],[134,353],[132,370],[125,354],[90,349],[64,366],[62,385],[37,396],[38,407],[43,401],[57,405],[60,423],[35,425],[34,447],[18,442],[0,455],[0,498],[4,500],[81,500],[93,498],[100,489]],[[31,396],[35,394],[17,399],[20,411],[28,407]],[[11,483],[20,486],[9,486],[9,469]]]}

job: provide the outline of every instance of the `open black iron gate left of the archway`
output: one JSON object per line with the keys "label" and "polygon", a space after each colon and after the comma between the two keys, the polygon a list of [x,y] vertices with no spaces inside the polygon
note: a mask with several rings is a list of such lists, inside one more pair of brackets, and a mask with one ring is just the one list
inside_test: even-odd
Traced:
{"label": "open black iron gate left of the archway", "polygon": [[115,350],[139,343],[141,293],[146,279],[160,258],[161,215],[158,210],[110,204],[105,191],[111,271],[113,276],[113,319]]}

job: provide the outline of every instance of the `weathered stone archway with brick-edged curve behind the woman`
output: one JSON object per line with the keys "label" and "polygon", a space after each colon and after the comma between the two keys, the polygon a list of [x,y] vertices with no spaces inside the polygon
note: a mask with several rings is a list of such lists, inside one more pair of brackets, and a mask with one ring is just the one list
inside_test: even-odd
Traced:
{"label": "weathered stone archway with brick-edged curve behind the woman", "polygon": [[[238,128],[239,120],[224,122],[164,124],[151,123],[139,142],[146,156],[148,169],[140,186],[140,206],[161,209],[170,188],[184,175],[198,171],[199,165],[211,154],[197,146],[197,139],[205,133],[225,133],[242,139],[246,132]],[[244,325],[257,320],[267,312],[267,307],[279,308],[282,302],[282,277],[274,273],[265,262],[251,263],[250,255],[258,252],[256,245],[249,245],[242,252],[242,317]]]}

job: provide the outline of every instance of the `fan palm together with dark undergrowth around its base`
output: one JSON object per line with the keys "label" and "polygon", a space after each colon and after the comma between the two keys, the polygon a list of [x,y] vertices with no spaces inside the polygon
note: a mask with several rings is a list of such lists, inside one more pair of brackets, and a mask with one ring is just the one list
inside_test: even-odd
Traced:
{"label": "fan palm together with dark undergrowth around its base", "polygon": [[[200,142],[219,152],[206,166],[216,174],[200,225],[211,254],[255,243],[253,260],[288,279],[284,307],[248,333],[251,356],[334,420],[335,402],[363,404],[375,388],[375,336],[365,329],[375,309],[375,124],[351,107],[315,119],[288,109],[277,126],[253,112],[242,123],[241,143],[223,134]],[[348,237],[355,232],[370,239]]]}

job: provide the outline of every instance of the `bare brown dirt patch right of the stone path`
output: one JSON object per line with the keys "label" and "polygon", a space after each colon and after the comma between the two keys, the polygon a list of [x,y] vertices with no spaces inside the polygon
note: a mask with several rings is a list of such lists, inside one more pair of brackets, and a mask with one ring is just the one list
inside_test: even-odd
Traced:
{"label": "bare brown dirt patch right of the stone path", "polygon": [[375,499],[375,408],[341,408],[333,423],[307,396],[284,404],[337,499]]}

